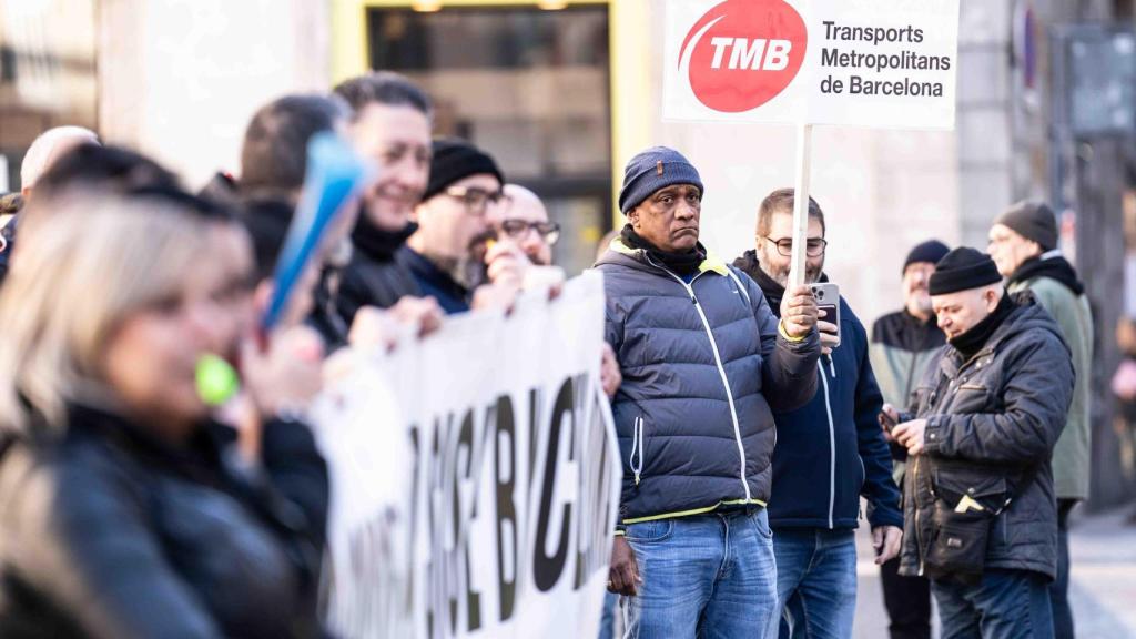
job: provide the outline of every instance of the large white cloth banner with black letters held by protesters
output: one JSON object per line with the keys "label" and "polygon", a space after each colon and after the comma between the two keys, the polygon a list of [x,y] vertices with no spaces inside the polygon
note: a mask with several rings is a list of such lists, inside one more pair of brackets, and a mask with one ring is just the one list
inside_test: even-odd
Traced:
{"label": "large white cloth banner with black letters held by protesters", "polygon": [[332,471],[327,617],[356,637],[594,637],[621,466],[598,273],[554,301],[349,354],[314,421]]}

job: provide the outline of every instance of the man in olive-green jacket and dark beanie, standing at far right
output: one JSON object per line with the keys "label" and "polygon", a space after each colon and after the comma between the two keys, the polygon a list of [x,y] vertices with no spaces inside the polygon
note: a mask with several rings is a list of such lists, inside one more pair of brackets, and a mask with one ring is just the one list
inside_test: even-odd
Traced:
{"label": "man in olive-green jacket and dark beanie, standing at far right", "polygon": [[1021,201],[1005,210],[989,231],[989,252],[1011,293],[1029,291],[1056,321],[1077,372],[1064,431],[1053,449],[1053,489],[1058,497],[1058,576],[1050,586],[1058,639],[1074,637],[1069,607],[1069,513],[1088,499],[1092,450],[1093,313],[1077,272],[1058,249],[1058,224],[1045,204]]}

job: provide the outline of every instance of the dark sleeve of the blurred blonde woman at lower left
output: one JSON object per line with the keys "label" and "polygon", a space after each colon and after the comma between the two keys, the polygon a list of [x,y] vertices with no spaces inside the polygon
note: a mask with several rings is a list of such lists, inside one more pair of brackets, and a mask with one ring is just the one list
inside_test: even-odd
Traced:
{"label": "dark sleeve of the blurred blonde woman at lower left", "polygon": [[15,548],[8,561],[86,636],[222,637],[203,603],[167,563],[144,497],[115,468],[33,471],[18,504],[5,524]]}

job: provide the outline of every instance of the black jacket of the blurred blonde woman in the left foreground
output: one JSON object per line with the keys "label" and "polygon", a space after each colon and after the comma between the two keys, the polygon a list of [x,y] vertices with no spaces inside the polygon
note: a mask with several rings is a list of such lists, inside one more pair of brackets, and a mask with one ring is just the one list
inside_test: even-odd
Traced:
{"label": "black jacket of the blurred blonde woman in the left foreground", "polygon": [[321,636],[324,460],[307,426],[269,422],[264,472],[244,470],[232,433],[174,449],[76,407],[58,441],[9,439],[0,637]]}

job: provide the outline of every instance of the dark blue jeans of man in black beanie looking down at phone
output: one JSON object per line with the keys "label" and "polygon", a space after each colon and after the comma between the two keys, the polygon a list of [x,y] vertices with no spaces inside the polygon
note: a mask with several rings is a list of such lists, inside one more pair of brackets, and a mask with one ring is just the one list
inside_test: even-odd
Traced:
{"label": "dark blue jeans of man in black beanie looking down at phone", "polygon": [[1042,574],[988,570],[975,586],[937,579],[930,590],[943,622],[942,639],[1053,637],[1049,584]]}

